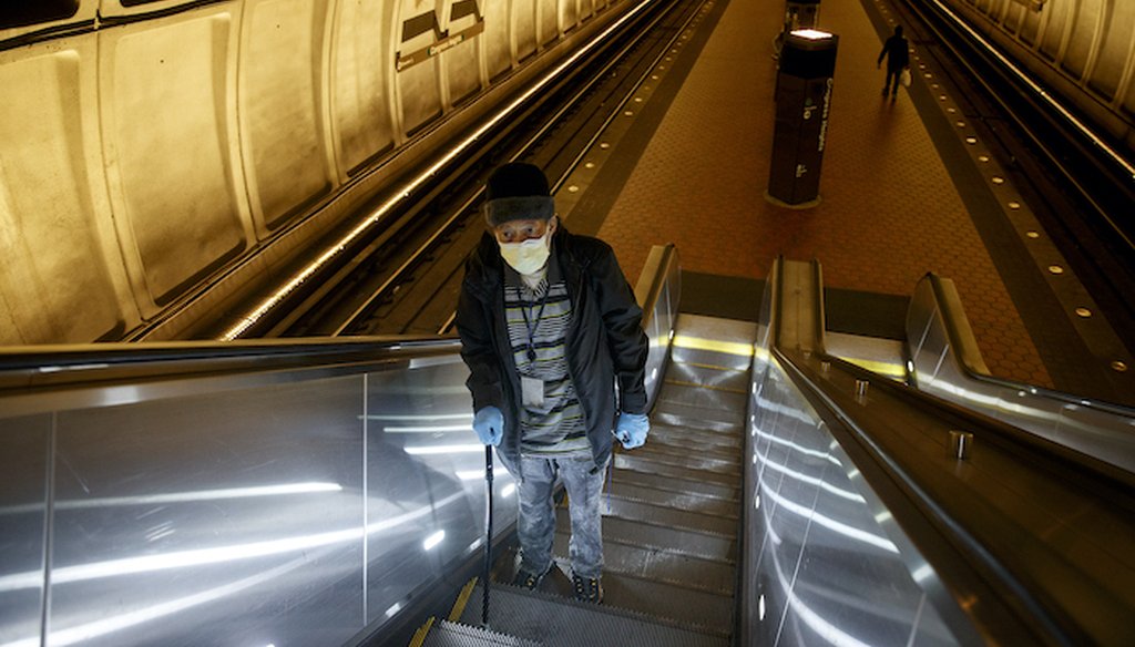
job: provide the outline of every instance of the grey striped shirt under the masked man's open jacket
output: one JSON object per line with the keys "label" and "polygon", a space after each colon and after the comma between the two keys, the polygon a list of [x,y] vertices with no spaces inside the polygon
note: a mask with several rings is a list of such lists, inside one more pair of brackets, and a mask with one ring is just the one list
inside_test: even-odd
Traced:
{"label": "grey striped shirt under the masked man's open jacket", "polygon": [[[583,409],[568,371],[571,299],[558,269],[552,260],[535,288],[512,268],[505,272],[505,321],[516,370],[544,384],[543,405],[521,405],[520,449],[526,455],[589,456]],[[535,360],[529,359],[529,348]]]}

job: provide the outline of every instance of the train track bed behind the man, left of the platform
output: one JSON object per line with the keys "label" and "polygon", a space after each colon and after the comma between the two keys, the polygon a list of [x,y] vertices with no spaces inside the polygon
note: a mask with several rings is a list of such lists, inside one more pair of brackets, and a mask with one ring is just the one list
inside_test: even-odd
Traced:
{"label": "train track bed behind the man, left of the platform", "polygon": [[[485,230],[478,207],[488,174],[504,161],[524,159],[544,168],[558,186],[703,3],[655,2],[617,33],[606,34],[606,42],[544,89],[521,117],[482,136],[480,145],[423,187],[420,198],[387,216],[389,225],[340,254],[345,262],[309,278],[308,287],[277,303],[241,336],[446,333],[464,259]],[[326,253],[323,247],[316,245],[313,257]]]}

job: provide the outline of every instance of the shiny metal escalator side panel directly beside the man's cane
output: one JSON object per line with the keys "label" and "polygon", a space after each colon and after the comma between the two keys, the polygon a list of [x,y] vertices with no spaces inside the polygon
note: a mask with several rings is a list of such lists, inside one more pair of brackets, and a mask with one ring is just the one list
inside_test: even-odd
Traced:
{"label": "shiny metal escalator side panel directly beside the man's cane", "polygon": [[[447,564],[484,547],[485,446],[472,430],[468,375],[454,356],[369,376],[368,622],[393,615]],[[494,485],[499,533],[515,519],[499,463]]]}

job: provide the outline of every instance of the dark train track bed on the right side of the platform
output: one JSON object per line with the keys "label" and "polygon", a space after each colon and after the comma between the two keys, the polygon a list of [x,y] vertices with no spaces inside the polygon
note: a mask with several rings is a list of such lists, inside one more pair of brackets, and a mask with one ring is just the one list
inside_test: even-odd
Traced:
{"label": "dark train track bed on the right side of the platform", "polygon": [[[1135,331],[1135,177],[1130,160],[1103,137],[1082,128],[1053,93],[1040,92],[1015,64],[959,23],[935,0],[902,0],[896,7],[948,60],[942,68],[961,89],[974,116],[1000,144],[1002,165],[1061,254],[1120,333]],[[1119,146],[1117,146],[1119,148]],[[1128,345],[1130,339],[1127,339]]]}

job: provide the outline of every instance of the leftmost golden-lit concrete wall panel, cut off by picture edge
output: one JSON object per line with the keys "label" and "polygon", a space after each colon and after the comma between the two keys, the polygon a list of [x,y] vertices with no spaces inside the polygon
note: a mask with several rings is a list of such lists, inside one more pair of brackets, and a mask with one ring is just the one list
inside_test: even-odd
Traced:
{"label": "leftmost golden-lit concrete wall panel, cut off by picture edge", "polygon": [[0,102],[0,339],[96,339],[124,316],[87,177],[82,68],[94,48],[36,50],[0,60],[0,87],[20,89]]}

